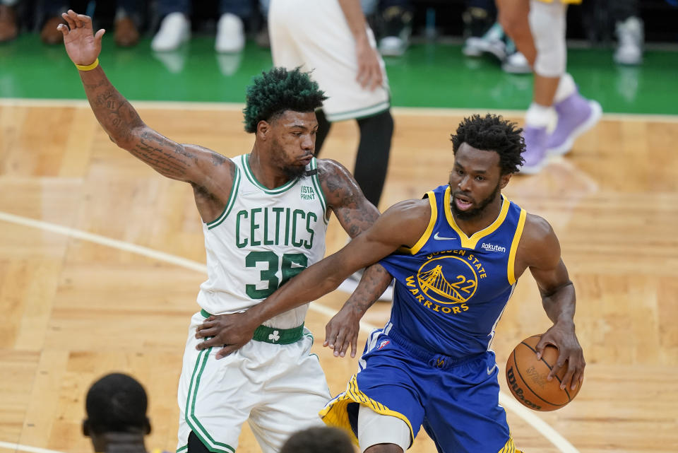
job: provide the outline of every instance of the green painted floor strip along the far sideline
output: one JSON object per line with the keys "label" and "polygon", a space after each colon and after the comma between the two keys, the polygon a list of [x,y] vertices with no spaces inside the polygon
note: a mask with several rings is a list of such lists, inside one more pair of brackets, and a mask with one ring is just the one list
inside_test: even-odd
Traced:
{"label": "green painted floor strip along the far sideline", "polygon": [[[131,100],[244,102],[251,77],[271,66],[268,49],[249,43],[239,55],[217,54],[214,38],[196,36],[177,52],[155,54],[150,40],[119,49],[104,38],[102,67]],[[678,52],[648,50],[642,66],[618,66],[612,49],[570,49],[568,68],[606,113],[678,114]],[[460,45],[412,45],[386,59],[393,105],[516,109],[528,107],[532,76],[501,71],[491,57],[470,59]],[[84,99],[77,71],[62,46],[35,34],[0,45],[0,98]]]}

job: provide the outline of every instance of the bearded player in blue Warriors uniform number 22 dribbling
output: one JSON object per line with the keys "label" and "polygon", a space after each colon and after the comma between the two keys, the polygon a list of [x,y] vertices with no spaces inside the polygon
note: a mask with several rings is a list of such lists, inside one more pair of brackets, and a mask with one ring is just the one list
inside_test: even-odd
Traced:
{"label": "bearded player in blue Warriors uniform number 22 dribbling", "polygon": [[[574,331],[575,293],[546,220],[501,194],[522,163],[521,129],[496,115],[474,115],[452,136],[449,184],[400,202],[339,252],[296,276],[243,314],[206,322],[198,336],[227,344],[251,338],[263,319],[314,300],[356,269],[379,261],[396,278],[391,319],[373,331],[343,394],[321,417],[346,428],[361,452],[408,449],[420,426],[439,452],[516,451],[499,406],[494,328],[525,269],[553,325],[537,350],[559,348],[562,388],[581,384],[585,366]],[[326,329],[326,345],[355,351],[359,319],[388,282],[366,276]],[[201,346],[202,347],[202,346]]]}

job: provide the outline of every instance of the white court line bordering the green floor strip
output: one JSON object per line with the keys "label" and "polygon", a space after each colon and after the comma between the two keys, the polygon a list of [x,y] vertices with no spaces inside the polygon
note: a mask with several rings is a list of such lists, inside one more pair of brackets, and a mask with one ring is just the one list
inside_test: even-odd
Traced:
{"label": "white court line bordering the green floor strip", "polygon": [[[183,101],[148,101],[130,100],[136,108],[165,109],[165,110],[220,110],[225,112],[240,112],[245,107],[238,102],[183,102]],[[86,100],[78,99],[23,99],[0,98],[0,105],[8,107],[89,107]],[[446,107],[391,107],[395,114],[407,114],[418,117],[466,117],[474,113],[492,112],[508,118],[523,118],[525,110],[490,109],[476,107],[472,109],[458,109]],[[678,115],[673,114],[640,114],[640,113],[603,113],[602,119],[623,122],[659,122],[678,123]]]}

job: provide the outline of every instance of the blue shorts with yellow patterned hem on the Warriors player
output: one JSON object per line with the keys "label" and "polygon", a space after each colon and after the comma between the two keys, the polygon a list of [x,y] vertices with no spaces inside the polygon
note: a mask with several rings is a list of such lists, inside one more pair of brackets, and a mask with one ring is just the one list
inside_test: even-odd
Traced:
{"label": "blue shorts with yellow patterned hem on the Warriors player", "polygon": [[494,353],[467,358],[434,355],[391,330],[373,331],[346,392],[328,402],[320,416],[345,428],[357,442],[357,408],[363,404],[420,426],[444,453],[513,452],[506,412],[499,406]]}

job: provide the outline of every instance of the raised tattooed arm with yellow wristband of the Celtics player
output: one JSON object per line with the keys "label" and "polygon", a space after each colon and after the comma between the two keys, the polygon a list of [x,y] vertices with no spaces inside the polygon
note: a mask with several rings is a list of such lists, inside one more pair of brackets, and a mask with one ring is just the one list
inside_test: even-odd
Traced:
{"label": "raised tattooed arm with yellow wristband of the Celtics player", "polygon": [[[73,10],[62,16],[69,24],[59,25],[69,57],[76,65],[93,64],[101,51],[104,30],[93,35],[92,19]],[[111,140],[161,175],[191,183],[203,220],[218,216],[230,195],[234,164],[207,148],[182,145],[150,129],[112,86],[101,66],[79,72],[90,106]]]}

